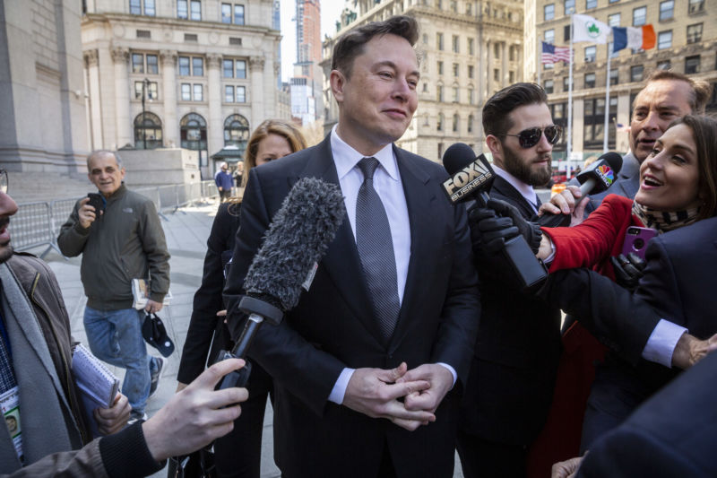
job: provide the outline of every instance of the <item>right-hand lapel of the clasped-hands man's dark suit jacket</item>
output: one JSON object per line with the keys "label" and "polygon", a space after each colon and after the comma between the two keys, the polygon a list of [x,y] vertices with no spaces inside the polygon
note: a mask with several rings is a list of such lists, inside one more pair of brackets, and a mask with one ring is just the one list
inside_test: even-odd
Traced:
{"label": "right-hand lapel of the clasped-hands man's dark suit jacket", "polygon": [[[419,169],[417,164],[410,161],[410,158],[393,146],[393,152],[398,162],[399,173],[403,185],[403,194],[406,196],[406,206],[409,210],[410,223],[410,260],[409,269],[406,276],[406,288],[403,291],[403,300],[401,303],[401,312],[399,313],[398,324],[393,332],[390,349],[395,348],[402,341],[403,335],[406,334],[410,327],[410,318],[415,316],[418,311],[412,311],[411,307],[415,304],[422,303],[419,295],[420,281],[425,277],[424,267],[429,260],[428,257],[435,253],[436,248],[440,246],[436,243],[436,221],[438,218],[433,217],[436,208],[431,207],[431,203],[436,200],[434,191],[429,190],[428,184],[430,177],[428,174]],[[445,220],[445,218],[443,219]]]}

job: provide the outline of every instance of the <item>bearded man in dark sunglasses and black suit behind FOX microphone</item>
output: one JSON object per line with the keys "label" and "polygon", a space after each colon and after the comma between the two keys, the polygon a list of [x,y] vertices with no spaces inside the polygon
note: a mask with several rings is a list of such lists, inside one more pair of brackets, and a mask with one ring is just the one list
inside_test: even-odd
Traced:
{"label": "bearded man in dark sunglasses and black suit behind FOX microphone", "polygon": [[[497,175],[489,196],[530,219],[540,207],[533,187],[549,181],[561,134],[545,91],[535,83],[498,91],[483,107],[483,130]],[[463,475],[525,476],[526,449],[552,399],[560,312],[506,282],[475,246],[474,253],[482,311],[457,440]]]}

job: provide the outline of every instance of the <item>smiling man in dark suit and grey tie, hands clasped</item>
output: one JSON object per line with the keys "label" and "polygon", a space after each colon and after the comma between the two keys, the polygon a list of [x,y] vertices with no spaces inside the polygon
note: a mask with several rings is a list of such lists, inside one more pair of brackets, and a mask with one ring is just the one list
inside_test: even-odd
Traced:
{"label": "smiling man in dark suit and grey tie, hands clasped", "polygon": [[347,206],[309,291],[249,352],[275,381],[284,476],[453,474],[478,278],[465,211],[441,190],[445,169],[393,145],[418,103],[417,39],[405,16],[347,32],[330,76],[338,125],[249,175],[225,289],[235,337],[243,278],[290,187],[322,178]]}

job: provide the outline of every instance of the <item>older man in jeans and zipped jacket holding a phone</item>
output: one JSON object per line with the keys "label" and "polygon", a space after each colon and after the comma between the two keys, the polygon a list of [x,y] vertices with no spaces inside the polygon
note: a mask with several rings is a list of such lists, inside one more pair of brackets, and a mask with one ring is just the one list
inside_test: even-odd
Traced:
{"label": "older man in jeans and zipped jacket holding a phone", "polygon": [[91,152],[87,169],[99,194],[75,204],[57,244],[65,256],[82,254],[84,326],[91,351],[126,369],[122,390],[132,405],[131,421],[143,419],[164,359],[147,353],[144,314],[132,307],[132,280],[151,279],[144,311],[158,312],[169,290],[167,244],[154,204],[125,187],[125,168],[117,153]]}

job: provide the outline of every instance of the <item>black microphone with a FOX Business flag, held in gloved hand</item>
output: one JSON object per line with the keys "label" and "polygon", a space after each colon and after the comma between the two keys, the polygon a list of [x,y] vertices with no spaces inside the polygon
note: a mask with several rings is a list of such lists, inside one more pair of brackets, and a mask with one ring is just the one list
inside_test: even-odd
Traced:
{"label": "black microphone with a FOX Business flag, held in gloved hand", "polygon": [[[443,183],[445,194],[451,203],[474,199],[480,207],[487,206],[488,190],[493,185],[496,174],[484,155],[476,157],[471,146],[455,143],[445,150],[443,164],[451,175]],[[506,240],[503,251],[524,287],[531,287],[548,276],[545,266],[540,264],[523,236],[518,235]]]}

